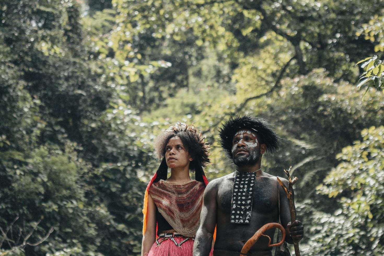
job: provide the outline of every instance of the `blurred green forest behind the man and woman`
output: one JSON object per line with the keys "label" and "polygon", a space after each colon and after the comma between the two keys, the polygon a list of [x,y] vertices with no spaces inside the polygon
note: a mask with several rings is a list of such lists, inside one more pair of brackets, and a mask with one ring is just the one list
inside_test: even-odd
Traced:
{"label": "blurred green forest behind the man and woman", "polygon": [[156,135],[193,122],[212,180],[242,114],[284,138],[263,168],[300,178],[302,255],[384,255],[384,96],[355,67],[383,28],[382,0],[2,0],[0,255],[139,254]]}

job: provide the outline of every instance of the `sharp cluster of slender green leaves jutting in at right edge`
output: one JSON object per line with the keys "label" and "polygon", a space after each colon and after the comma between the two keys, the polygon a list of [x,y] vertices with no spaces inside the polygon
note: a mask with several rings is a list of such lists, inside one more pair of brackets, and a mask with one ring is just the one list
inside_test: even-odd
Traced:
{"label": "sharp cluster of slender green leaves jutting in at right edge", "polygon": [[[384,89],[384,63],[382,60],[377,59],[377,55],[362,59],[355,66],[361,64],[361,68],[364,69],[364,73],[360,76],[359,84],[356,88],[360,89],[364,84],[367,85],[367,89],[364,93],[367,93],[369,88],[376,88],[377,91],[383,91]],[[363,96],[363,98],[364,98]]]}

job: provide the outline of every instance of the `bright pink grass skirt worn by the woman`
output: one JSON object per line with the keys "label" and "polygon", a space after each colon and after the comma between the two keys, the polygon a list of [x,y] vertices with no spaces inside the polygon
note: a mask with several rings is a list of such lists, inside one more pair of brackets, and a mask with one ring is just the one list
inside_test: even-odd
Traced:
{"label": "bright pink grass skirt worn by the woman", "polygon": [[[192,256],[192,237],[158,238],[149,250],[148,256]],[[212,256],[212,250],[209,256]]]}

